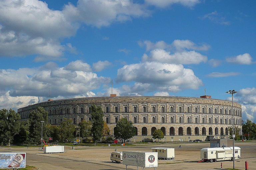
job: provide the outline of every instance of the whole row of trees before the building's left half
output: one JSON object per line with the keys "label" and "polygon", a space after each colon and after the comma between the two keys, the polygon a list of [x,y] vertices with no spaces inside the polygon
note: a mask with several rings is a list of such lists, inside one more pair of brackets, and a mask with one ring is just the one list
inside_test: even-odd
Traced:
{"label": "whole row of trees before the building's left half", "polygon": [[[0,110],[0,145],[10,144],[41,144],[41,135],[47,141],[49,137],[55,141],[72,141],[74,137],[88,139],[92,136],[94,143],[102,141],[109,135],[109,127],[103,120],[101,107],[91,106],[92,121],[83,120],[78,127],[71,119],[64,119],[60,126],[48,124],[48,112],[42,107],[32,111],[29,119],[20,123],[20,115],[14,110]],[[43,122],[43,123],[42,123]],[[43,132],[43,133],[42,133]],[[114,137],[125,141],[135,135],[131,121],[122,118],[117,122]],[[112,137],[110,137],[113,140]]]}

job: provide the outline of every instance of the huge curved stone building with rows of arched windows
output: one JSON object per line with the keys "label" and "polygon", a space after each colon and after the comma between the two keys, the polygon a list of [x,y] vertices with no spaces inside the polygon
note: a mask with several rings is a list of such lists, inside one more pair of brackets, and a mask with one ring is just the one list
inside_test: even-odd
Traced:
{"label": "huge curved stone building with rows of arched windows", "polygon": [[48,100],[18,109],[22,121],[31,111],[43,107],[48,111],[48,123],[60,125],[64,118],[77,125],[82,120],[90,121],[90,106],[100,106],[104,120],[113,134],[121,118],[133,122],[137,132],[131,141],[152,140],[155,129],[164,132],[163,141],[189,141],[193,139],[228,138],[228,128],[238,126],[242,131],[242,109],[239,103],[211,99],[211,96],[112,96]]}

